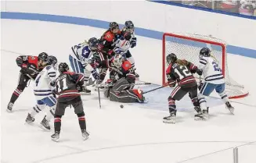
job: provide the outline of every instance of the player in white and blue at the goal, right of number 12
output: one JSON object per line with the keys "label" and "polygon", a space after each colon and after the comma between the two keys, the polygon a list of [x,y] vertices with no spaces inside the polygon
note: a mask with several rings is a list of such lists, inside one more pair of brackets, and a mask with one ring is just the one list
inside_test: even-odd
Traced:
{"label": "player in white and blue at the goal, right of number 12", "polygon": [[204,75],[204,83],[200,83],[200,94],[198,94],[198,99],[200,108],[204,112],[204,119],[207,119],[208,115],[207,104],[204,97],[209,96],[213,90],[215,90],[222,98],[226,108],[233,113],[234,108],[230,105],[229,97],[225,93],[225,79],[222,74],[222,69],[218,66],[218,61],[211,55],[211,50],[209,48],[202,48],[200,50],[199,59],[200,65],[198,66],[198,69],[201,70],[200,75]]}

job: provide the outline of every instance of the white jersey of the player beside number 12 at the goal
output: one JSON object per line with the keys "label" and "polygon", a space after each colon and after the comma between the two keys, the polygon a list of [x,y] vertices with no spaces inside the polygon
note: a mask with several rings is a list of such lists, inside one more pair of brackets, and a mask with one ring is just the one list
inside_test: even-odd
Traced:
{"label": "white jersey of the player beside number 12 at the goal", "polygon": [[215,84],[225,83],[222,69],[219,68],[218,62],[216,62],[214,58],[200,58],[200,65],[198,66],[198,69],[203,70],[204,81]]}

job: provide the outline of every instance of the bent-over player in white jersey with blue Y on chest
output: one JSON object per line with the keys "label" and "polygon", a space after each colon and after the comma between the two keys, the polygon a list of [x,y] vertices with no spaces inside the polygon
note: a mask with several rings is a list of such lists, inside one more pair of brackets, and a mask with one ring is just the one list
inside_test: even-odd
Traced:
{"label": "bent-over player in white jersey with blue Y on chest", "polygon": [[[88,79],[92,73],[94,79],[99,79],[99,73],[95,66],[91,64],[92,55],[96,52],[98,48],[99,41],[96,37],[92,37],[87,41],[74,45],[71,48],[70,52],[70,65],[75,73],[82,73],[85,76],[85,85],[88,82]],[[90,94],[91,90],[88,90],[85,86],[82,89],[82,92]]]}

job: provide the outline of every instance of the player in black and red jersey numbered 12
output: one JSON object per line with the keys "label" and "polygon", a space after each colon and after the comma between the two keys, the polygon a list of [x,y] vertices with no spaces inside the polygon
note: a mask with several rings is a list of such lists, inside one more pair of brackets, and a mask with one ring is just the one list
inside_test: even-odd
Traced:
{"label": "player in black and red jersey numbered 12", "polygon": [[202,119],[203,113],[197,99],[197,81],[193,76],[193,73],[201,73],[200,70],[193,63],[178,59],[174,53],[169,54],[166,61],[169,64],[166,70],[169,86],[175,87],[176,83],[178,84],[168,97],[170,115],[164,117],[164,122],[175,123],[177,112],[175,101],[181,100],[187,93],[189,93],[194,109],[197,111],[195,120]]}

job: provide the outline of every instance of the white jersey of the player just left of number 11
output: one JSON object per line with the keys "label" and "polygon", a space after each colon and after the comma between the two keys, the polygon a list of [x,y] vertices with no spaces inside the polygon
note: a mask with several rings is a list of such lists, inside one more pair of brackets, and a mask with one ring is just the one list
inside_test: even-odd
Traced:
{"label": "white jersey of the player just left of number 11", "polygon": [[52,86],[50,83],[56,80],[56,68],[53,66],[46,66],[38,76],[35,78],[34,95],[37,100],[52,95]]}

